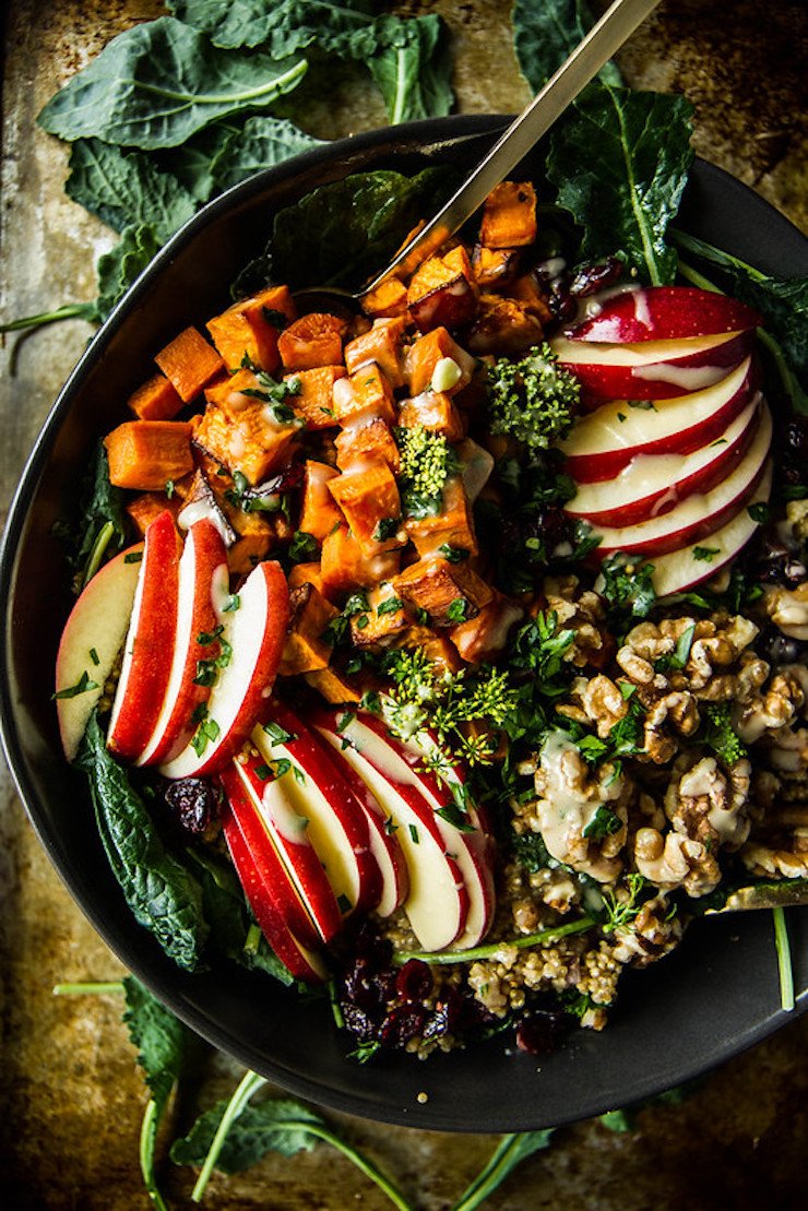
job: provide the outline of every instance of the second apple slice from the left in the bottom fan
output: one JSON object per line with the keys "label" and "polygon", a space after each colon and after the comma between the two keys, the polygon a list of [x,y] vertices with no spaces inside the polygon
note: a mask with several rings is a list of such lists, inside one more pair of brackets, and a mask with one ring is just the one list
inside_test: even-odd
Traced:
{"label": "second apple slice from the left in the bottom fan", "polygon": [[[273,843],[290,884],[314,922],[317,939],[331,942],[342,929],[342,909],[311,844],[310,817],[304,814],[306,802],[298,793],[302,787],[294,769],[290,767],[283,771],[274,761],[268,762],[254,753],[240,753],[234,764],[252,802],[256,821]],[[299,922],[290,922],[290,925],[302,941],[311,941]]]}

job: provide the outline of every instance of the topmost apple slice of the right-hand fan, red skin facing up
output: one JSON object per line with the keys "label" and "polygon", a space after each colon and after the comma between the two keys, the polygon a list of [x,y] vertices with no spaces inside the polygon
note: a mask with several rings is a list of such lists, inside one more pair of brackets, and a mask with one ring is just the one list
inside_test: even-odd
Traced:
{"label": "topmost apple slice of the right-hand fan, red skin facing up", "polygon": [[567,332],[573,340],[681,340],[726,332],[747,332],[762,325],[756,311],[715,291],[695,286],[647,286],[613,294],[597,315]]}

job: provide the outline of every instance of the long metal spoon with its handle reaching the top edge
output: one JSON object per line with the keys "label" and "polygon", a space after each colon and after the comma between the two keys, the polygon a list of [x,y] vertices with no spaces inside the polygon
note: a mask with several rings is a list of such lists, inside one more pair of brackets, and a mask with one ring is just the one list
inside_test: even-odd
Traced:
{"label": "long metal spoon with its handle reaching the top edge", "polygon": [[396,253],[392,262],[372,282],[356,292],[337,286],[310,287],[296,291],[296,299],[309,310],[337,308],[339,311],[345,309],[355,311],[363,295],[386,277],[413,272],[422,260],[440,248],[482,206],[494,185],[504,180],[550,130],[581,88],[597,75],[658,4],[659,0],[614,0],[569,58],[548,80],[544,88],[499,137],[457,193],[426,226]]}

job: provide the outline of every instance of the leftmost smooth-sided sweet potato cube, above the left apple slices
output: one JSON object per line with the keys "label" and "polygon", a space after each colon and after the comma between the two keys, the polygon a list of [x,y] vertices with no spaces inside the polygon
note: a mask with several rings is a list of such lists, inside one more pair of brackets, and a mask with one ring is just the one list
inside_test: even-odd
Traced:
{"label": "leftmost smooth-sided sweet potato cube, above the left apple slices", "polygon": [[165,492],[194,470],[190,440],[194,424],[187,420],[127,420],[104,438],[109,481],[116,488]]}

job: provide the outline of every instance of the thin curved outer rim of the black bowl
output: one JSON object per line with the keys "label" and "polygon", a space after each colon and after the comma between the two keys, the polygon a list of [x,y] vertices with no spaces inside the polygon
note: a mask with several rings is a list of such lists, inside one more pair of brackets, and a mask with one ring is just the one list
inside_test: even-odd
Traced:
{"label": "thin curved outer rim of the black bowl", "polygon": [[[234,1055],[247,1067],[254,1066],[254,1050],[251,1050],[250,1044],[234,1040],[229,1035],[227,1044],[224,1044],[220,1038],[217,1038],[216,1032],[212,1033],[211,1031],[210,1018],[205,1016],[201,1008],[196,1004],[196,998],[190,995],[183,987],[180,987],[179,991],[177,989],[176,985],[184,983],[184,981],[174,980],[172,982],[172,980],[166,976],[164,969],[155,971],[150,969],[148,964],[144,964],[138,954],[137,946],[133,942],[130,945],[128,939],[121,940],[115,934],[114,929],[108,926],[103,916],[103,907],[87,901],[87,897],[78,886],[74,872],[64,869],[63,863],[58,859],[57,837],[52,833],[48,827],[47,819],[44,817],[42,811],[39,808],[36,803],[36,793],[29,781],[27,762],[19,742],[18,721],[16,718],[15,704],[8,681],[8,653],[12,647],[10,633],[10,607],[13,597],[18,547],[23,536],[28,509],[36,497],[41,474],[51,452],[51,447],[61,429],[64,417],[67,415],[67,412],[73,404],[74,395],[80,390],[85,377],[103,355],[113,334],[126,321],[128,315],[136,310],[139,300],[148,292],[151,279],[155,275],[159,275],[162,269],[171,263],[173,257],[180,249],[190,245],[208,225],[227,214],[234,203],[250,202],[260,196],[270,185],[299,178],[306,170],[316,170],[322,166],[323,162],[331,163],[344,160],[350,165],[351,159],[361,157],[366,153],[378,153],[379,156],[383,156],[385,147],[388,155],[392,150],[423,150],[424,145],[428,145],[430,151],[434,154],[440,155],[442,148],[457,147],[458,142],[464,139],[486,138],[489,140],[495,132],[506,125],[509,120],[509,115],[454,115],[447,119],[428,119],[418,122],[402,124],[397,127],[382,127],[379,130],[367,131],[345,139],[317,145],[283,161],[281,165],[263,170],[247,180],[234,185],[231,189],[227,190],[224,194],[204,206],[160,249],[156,257],[150,262],[149,266],[138,277],[124,299],[121,299],[108,320],[92,338],[90,345],[59,391],[41,426],[39,436],[21,475],[17,490],[8,510],[8,520],[0,546],[0,609],[4,610],[6,618],[6,625],[2,629],[2,632],[0,632],[0,668],[2,670],[2,676],[0,677],[0,739],[2,741],[6,761],[11,769],[12,777],[25,808],[27,815],[31,821],[41,844],[44,845],[51,863],[55,866],[57,873],[70,891],[73,900],[79,905],[84,914],[107,945],[113,949],[113,952],[121,959],[121,962],[125,962],[128,970],[131,970],[138,980],[147,985],[147,987],[151,988],[153,992],[155,992],[155,994],[160,997],[160,999],[164,1000],[178,1017],[187,1022],[187,1025],[206,1038],[212,1045]],[[368,168],[369,167],[372,166],[368,165]],[[697,174],[700,174],[706,179],[712,178],[715,180],[720,180],[730,194],[743,196],[745,203],[747,206],[752,206],[752,208],[756,210],[756,212],[763,218],[768,218],[770,220],[772,216],[777,216],[777,223],[789,223],[784,216],[770,207],[769,203],[760,197],[760,195],[753,194],[749,186],[743,185],[743,183],[724,170],[718,168],[715,165],[710,165],[698,157],[695,170]],[[350,167],[346,171],[350,171]],[[793,230],[796,231],[797,229],[795,228]],[[806,243],[806,247],[808,248],[808,242]],[[803,913],[808,913],[808,909],[804,909]],[[134,920],[133,928],[139,929]],[[173,969],[173,965],[172,970],[179,972],[179,969]],[[182,975],[184,976],[185,974],[183,972]],[[196,977],[189,976],[188,978],[195,980]],[[806,1009],[808,1009],[808,981],[806,982],[806,987],[802,988],[797,1000],[797,1011],[802,1012]],[[773,1031],[778,1027],[785,1025],[785,1022],[790,1020],[790,1016],[793,1015],[786,1015],[781,1010],[774,1010],[767,1017],[758,1021],[753,1029],[745,1032],[743,1038],[739,1039],[735,1037],[732,1040],[726,1040],[723,1046],[715,1049],[711,1052],[709,1062],[695,1064],[681,1073],[680,1079],[687,1080],[700,1075],[703,1072],[737,1055],[739,1051],[745,1050],[752,1044],[766,1038],[768,1034],[773,1033]],[[412,1060],[408,1062],[413,1063]],[[440,1057],[430,1058],[430,1064],[432,1067],[437,1067],[436,1062],[440,1063]],[[428,1107],[419,1107],[418,1110],[416,1110],[414,1107],[401,1107],[392,1100],[389,1104],[379,1106],[373,1103],[368,1106],[367,1102],[360,1101],[350,1091],[345,1092],[338,1089],[326,1089],[319,1084],[315,1078],[309,1077],[306,1079],[300,1073],[290,1074],[282,1066],[277,1066],[271,1071],[264,1066],[263,1068],[259,1068],[259,1071],[263,1071],[264,1074],[271,1080],[277,1081],[292,1094],[337,1110],[363,1115],[366,1118],[376,1119],[377,1121],[389,1121],[403,1126],[452,1131],[529,1130],[532,1126],[535,1126],[537,1123],[539,1123],[539,1125],[549,1125],[549,1123],[540,1121],[540,1112],[533,1115],[532,1119],[526,1119],[525,1115],[521,1118],[518,1115],[514,1118],[503,1118],[502,1114],[497,1118],[492,1117],[491,1113],[486,1113],[491,1110],[489,1107],[485,1108],[483,1115],[481,1115],[472,1125],[469,1125],[469,1123],[455,1123],[451,1118],[447,1118],[446,1113],[435,1115],[434,1113],[430,1113]],[[429,1075],[430,1074],[426,1072],[425,1079],[429,1078]],[[661,1087],[665,1086],[660,1085],[658,1077],[652,1078],[647,1074],[638,1074],[632,1086],[632,1100],[642,1100],[652,1096],[654,1092],[659,1092]],[[601,1113],[602,1110],[611,1108],[612,1104],[613,1102],[609,1098],[608,1092],[603,1092],[600,1096],[590,1097],[583,1109],[580,1106],[571,1104],[569,1113],[566,1117],[563,1113],[554,1114],[552,1124],[561,1125],[563,1123],[575,1121],[580,1118]]]}

